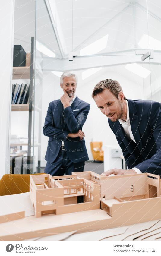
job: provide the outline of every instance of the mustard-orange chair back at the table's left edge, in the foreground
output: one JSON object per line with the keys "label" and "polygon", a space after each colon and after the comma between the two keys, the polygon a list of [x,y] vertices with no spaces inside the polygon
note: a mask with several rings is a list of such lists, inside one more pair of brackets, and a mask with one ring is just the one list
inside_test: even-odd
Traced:
{"label": "mustard-orange chair back at the table's left edge, in the foreground", "polygon": [[26,193],[30,191],[30,175],[35,174],[4,174],[0,180],[0,196]]}

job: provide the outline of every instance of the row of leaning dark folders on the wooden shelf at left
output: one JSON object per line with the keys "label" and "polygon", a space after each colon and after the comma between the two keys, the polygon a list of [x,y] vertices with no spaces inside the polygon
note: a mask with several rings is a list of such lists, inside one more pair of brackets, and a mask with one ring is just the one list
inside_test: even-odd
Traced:
{"label": "row of leaning dark folders on the wooden shelf at left", "polygon": [[29,84],[12,84],[12,104],[27,104]]}

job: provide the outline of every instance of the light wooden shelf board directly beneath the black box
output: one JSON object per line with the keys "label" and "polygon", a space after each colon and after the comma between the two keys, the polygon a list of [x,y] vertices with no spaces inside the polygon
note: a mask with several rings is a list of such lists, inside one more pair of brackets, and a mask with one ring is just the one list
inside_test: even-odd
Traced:
{"label": "light wooden shelf board directly beneath the black box", "polygon": [[13,67],[12,79],[30,79],[30,66]]}

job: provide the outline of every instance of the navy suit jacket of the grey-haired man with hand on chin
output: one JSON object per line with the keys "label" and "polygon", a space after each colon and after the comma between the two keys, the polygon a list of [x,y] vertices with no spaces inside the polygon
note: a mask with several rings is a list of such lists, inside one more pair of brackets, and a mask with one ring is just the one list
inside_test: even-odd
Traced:
{"label": "navy suit jacket of the grey-haired man with hand on chin", "polygon": [[84,139],[66,138],[68,133],[76,133],[82,130],[87,119],[90,105],[76,97],[70,107],[63,108],[60,100],[49,103],[45,118],[43,134],[49,137],[45,160],[53,163],[59,150],[62,140],[69,159],[74,162],[89,160]]}

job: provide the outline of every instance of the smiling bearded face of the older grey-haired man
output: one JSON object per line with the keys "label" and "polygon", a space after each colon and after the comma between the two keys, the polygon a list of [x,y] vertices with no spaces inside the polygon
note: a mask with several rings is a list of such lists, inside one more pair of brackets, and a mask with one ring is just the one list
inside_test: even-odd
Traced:
{"label": "smiling bearded face of the older grey-haired man", "polygon": [[60,85],[62,89],[64,89],[69,97],[74,96],[75,90],[77,87],[76,79],[74,76],[71,77],[64,77],[63,84]]}

